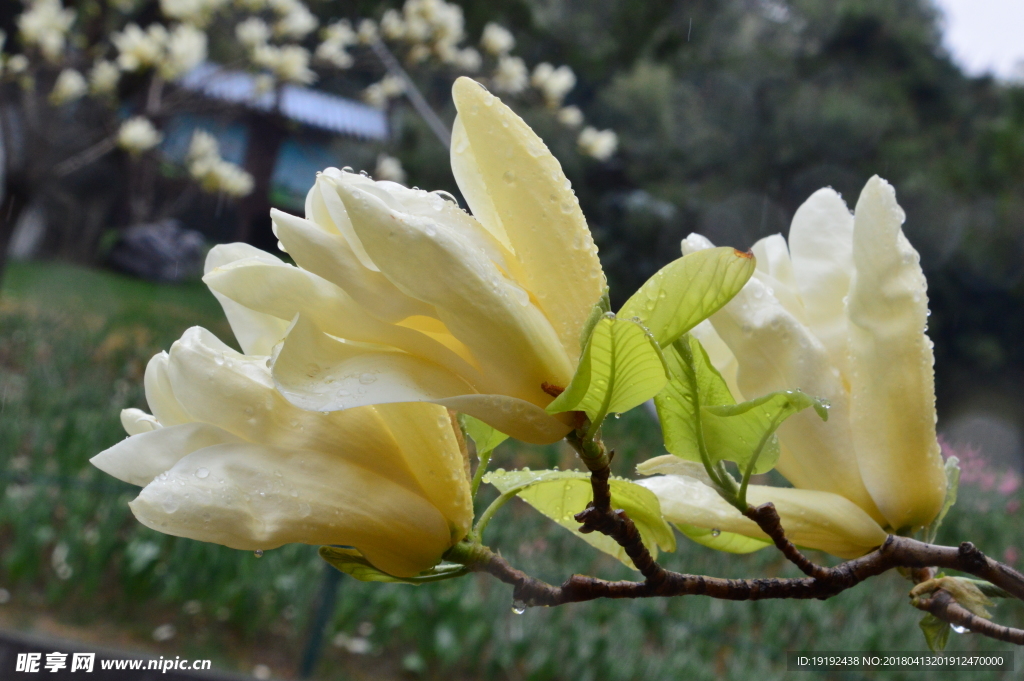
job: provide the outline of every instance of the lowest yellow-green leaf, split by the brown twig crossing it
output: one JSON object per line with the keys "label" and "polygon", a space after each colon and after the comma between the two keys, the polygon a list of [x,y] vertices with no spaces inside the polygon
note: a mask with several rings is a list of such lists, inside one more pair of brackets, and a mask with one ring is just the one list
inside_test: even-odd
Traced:
{"label": "lowest yellow-green leaf, split by the brown twig crossing it", "polygon": [[[502,494],[515,492],[524,502],[580,539],[634,567],[633,561],[614,540],[599,533],[584,535],[580,531],[580,523],[572,517],[594,499],[590,473],[497,470],[487,473],[484,481],[498,487]],[[613,477],[608,483],[611,487],[611,507],[626,511],[640,530],[644,546],[651,555],[656,557],[658,549],[675,551],[676,537],[672,526],[662,517],[662,506],[654,493],[624,478]]]}

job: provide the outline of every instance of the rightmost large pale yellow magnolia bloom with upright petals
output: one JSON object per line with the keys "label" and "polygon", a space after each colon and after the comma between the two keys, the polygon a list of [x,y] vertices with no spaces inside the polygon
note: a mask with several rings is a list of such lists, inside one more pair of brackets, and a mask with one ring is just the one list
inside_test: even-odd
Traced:
{"label": "rightmost large pale yellow magnolia bloom with upright petals", "polygon": [[[759,241],[754,276],[693,332],[737,399],[800,388],[829,400],[827,422],[807,411],[778,430],[777,469],[796,488],[752,485],[750,501],[775,502],[797,544],[842,557],[927,525],[946,491],[927,284],[904,219],[877,176],[853,215],[818,190],[794,216],[788,247],[779,235]],[[690,235],[683,251],[710,246]],[[675,474],[644,484],[670,520],[764,537],[698,474],[665,464],[645,472]]]}

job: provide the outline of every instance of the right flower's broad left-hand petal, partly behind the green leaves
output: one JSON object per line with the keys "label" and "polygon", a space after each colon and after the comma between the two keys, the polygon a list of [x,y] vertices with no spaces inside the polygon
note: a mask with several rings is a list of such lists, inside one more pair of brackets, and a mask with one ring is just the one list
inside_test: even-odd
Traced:
{"label": "right flower's broad left-hand petal, partly behind the green leaves", "polygon": [[799,388],[831,405],[826,422],[807,411],[779,427],[778,471],[798,487],[843,495],[882,521],[860,477],[849,395],[821,343],[759,279],[748,282],[711,321],[739,361],[736,382],[744,395]]}

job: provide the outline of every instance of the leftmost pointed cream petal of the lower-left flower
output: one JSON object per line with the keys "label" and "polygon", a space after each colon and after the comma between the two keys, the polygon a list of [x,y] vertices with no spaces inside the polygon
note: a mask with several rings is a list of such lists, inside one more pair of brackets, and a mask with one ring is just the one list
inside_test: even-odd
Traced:
{"label": "leftmost pointed cream petal of the lower-left flower", "polygon": [[241,441],[226,430],[208,423],[185,423],[132,435],[103,450],[89,462],[108,475],[141,487],[193,452]]}

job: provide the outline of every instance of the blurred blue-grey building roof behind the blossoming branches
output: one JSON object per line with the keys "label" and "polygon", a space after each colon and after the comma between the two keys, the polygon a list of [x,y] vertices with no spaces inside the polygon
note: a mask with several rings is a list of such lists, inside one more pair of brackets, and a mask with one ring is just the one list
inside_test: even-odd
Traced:
{"label": "blurred blue-grey building roof behind the blossoming branches", "polygon": [[[213,99],[243,104],[257,111],[273,110],[274,93],[259,93],[256,77],[223,69],[209,61],[186,74],[179,84]],[[358,101],[319,92],[301,85],[281,88],[281,114],[297,123],[364,139],[386,139],[384,113]]]}

